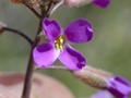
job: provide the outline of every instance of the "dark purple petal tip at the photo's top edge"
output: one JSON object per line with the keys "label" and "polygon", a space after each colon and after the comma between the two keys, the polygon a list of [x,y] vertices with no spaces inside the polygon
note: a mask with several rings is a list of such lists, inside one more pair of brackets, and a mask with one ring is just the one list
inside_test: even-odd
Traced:
{"label": "dark purple petal tip at the photo's top edge", "polygon": [[107,8],[110,3],[110,0],[94,0],[93,3],[100,8]]}

